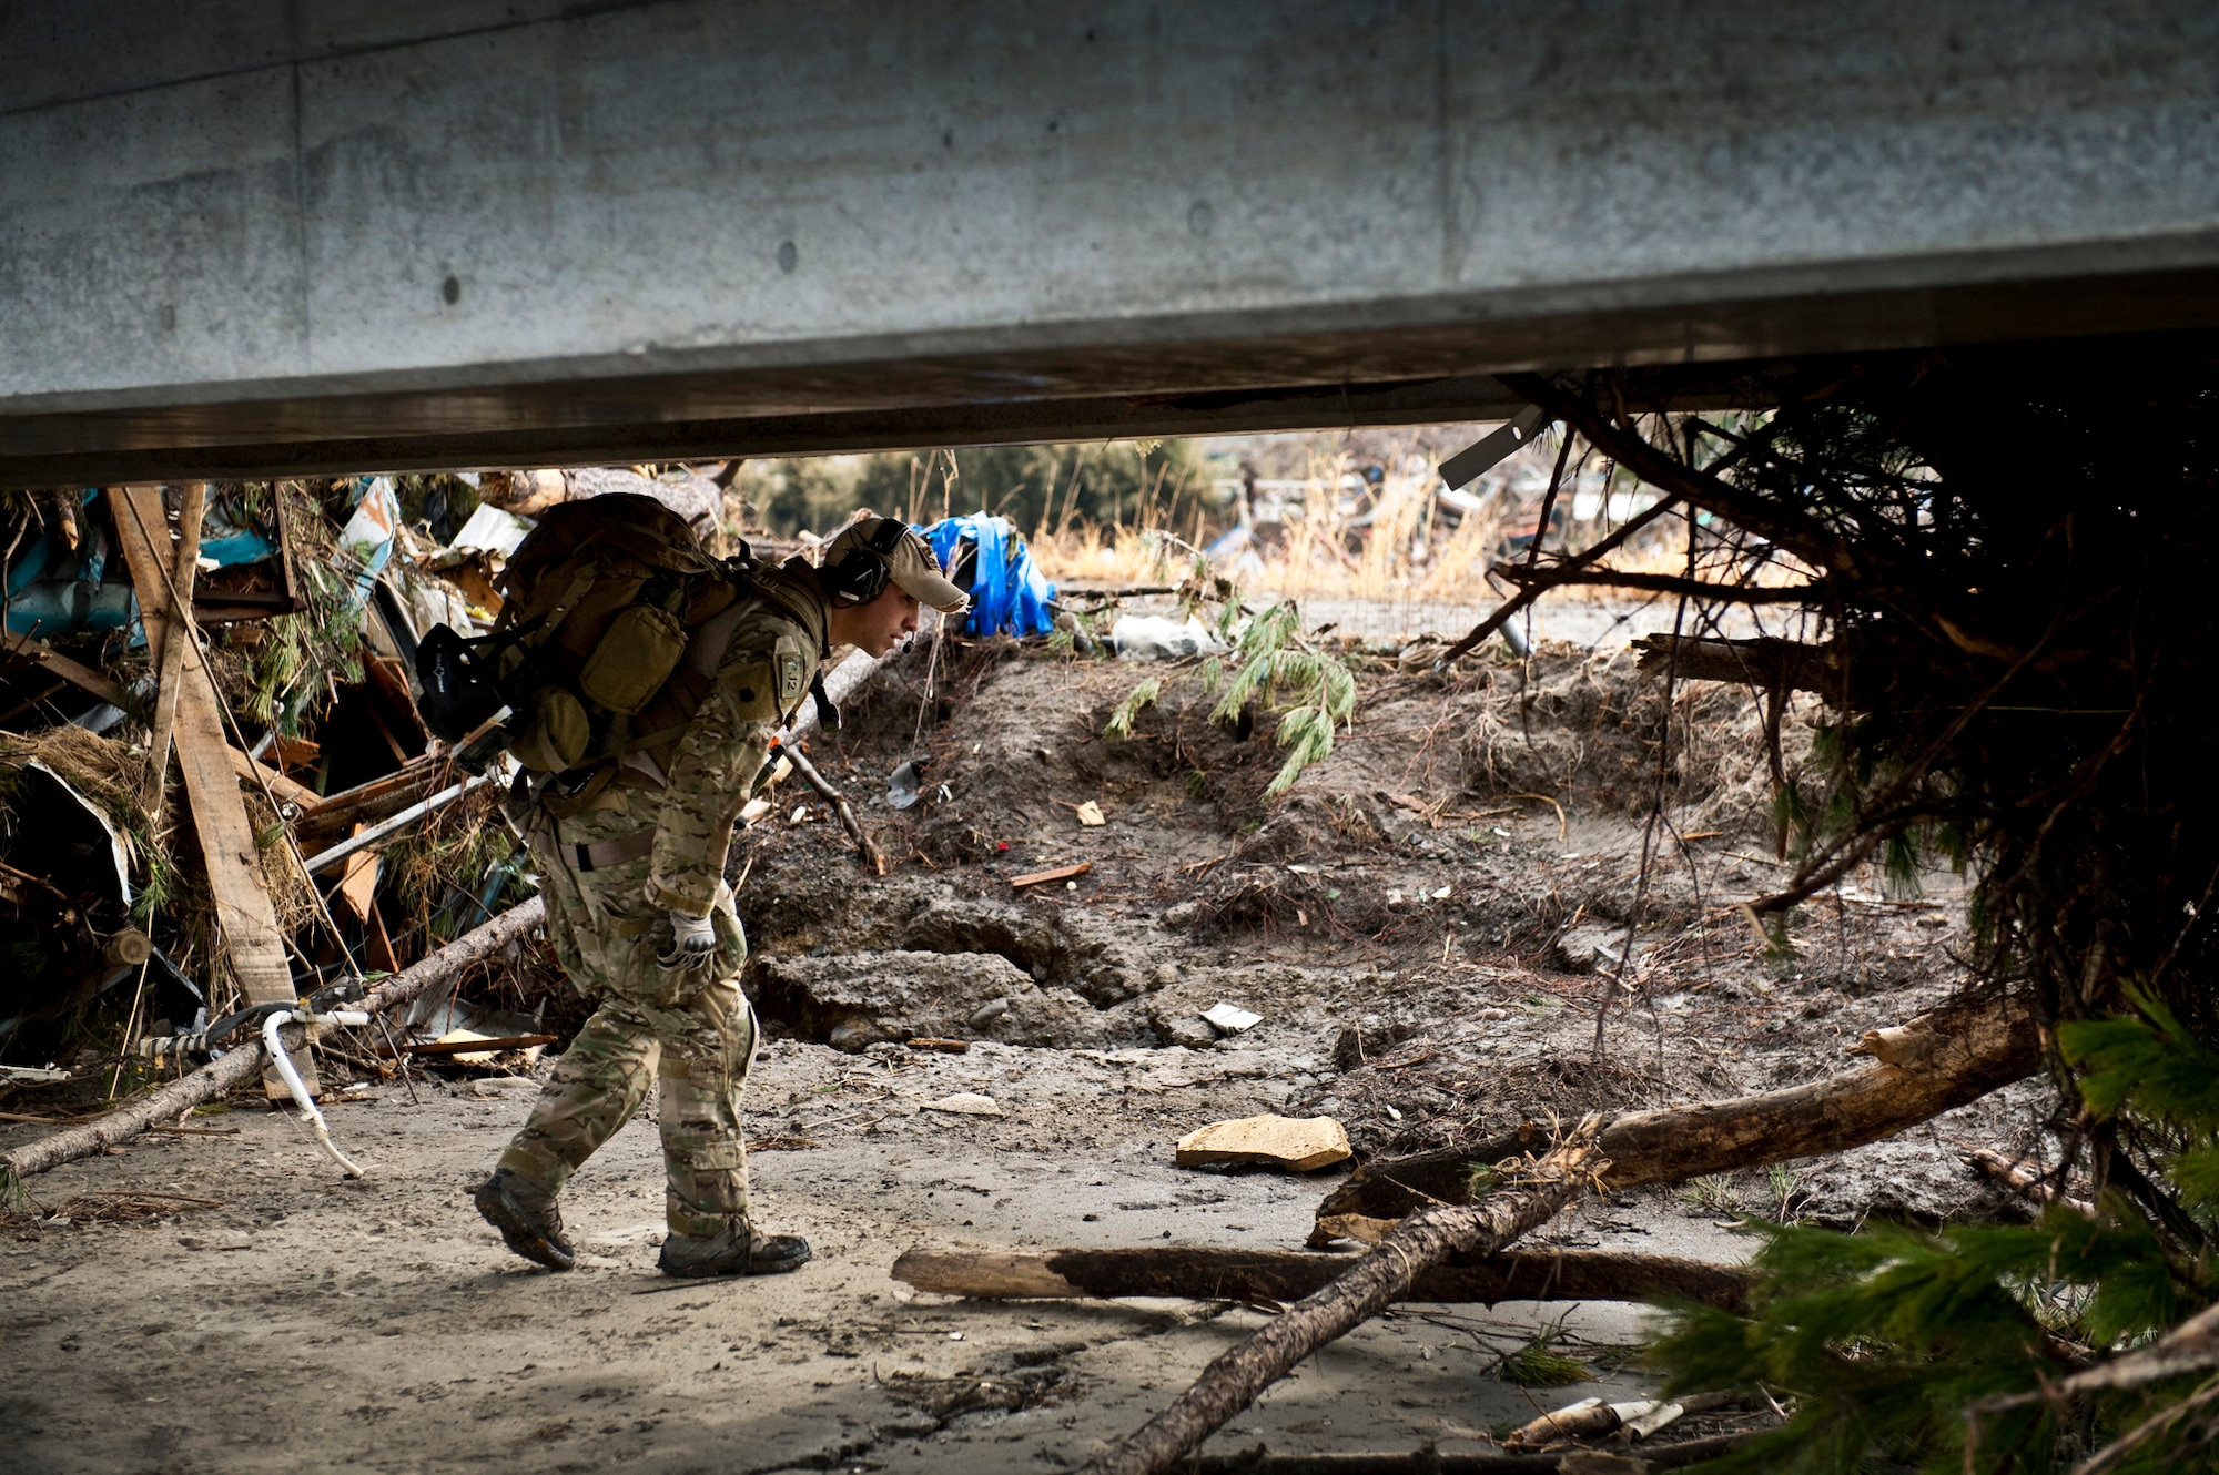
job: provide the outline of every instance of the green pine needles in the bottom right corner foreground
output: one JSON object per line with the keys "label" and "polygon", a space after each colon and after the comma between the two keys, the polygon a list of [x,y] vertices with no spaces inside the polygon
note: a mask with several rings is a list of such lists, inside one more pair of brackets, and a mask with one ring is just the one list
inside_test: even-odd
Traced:
{"label": "green pine needles in the bottom right corner foreground", "polygon": [[[2219,1298],[2219,1056],[2148,991],[2135,1016],[2057,1027],[2093,1118],[2172,1211],[2106,1191],[2030,1227],[1860,1233],[1751,1222],[1749,1315],[1680,1304],[1651,1349],[1671,1393],[1762,1386],[1786,1426],[1718,1471],[2212,1468],[2219,1377],[2177,1373],[2059,1397],[2064,1377],[2146,1346]],[[2121,1147],[2126,1151],[2126,1147]],[[2137,1193],[2137,1198],[2148,1198]]]}

